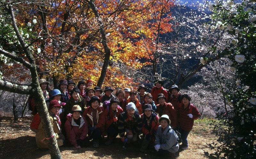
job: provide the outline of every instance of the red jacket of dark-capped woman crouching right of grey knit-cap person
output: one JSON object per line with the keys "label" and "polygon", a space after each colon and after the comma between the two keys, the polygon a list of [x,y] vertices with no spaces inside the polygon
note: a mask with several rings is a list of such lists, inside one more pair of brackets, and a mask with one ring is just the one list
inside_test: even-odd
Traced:
{"label": "red jacket of dark-capped woman crouching right of grey knit-cap person", "polygon": [[140,115],[140,117],[142,118],[142,129],[141,129],[142,134],[143,135],[147,135],[148,133],[150,133],[152,135],[153,134],[153,130],[155,130],[155,132],[156,132],[158,126],[160,125],[158,123],[159,117],[158,117],[158,115],[152,113],[151,118],[156,118],[156,120],[155,119],[151,120],[152,121],[151,122],[151,130],[148,131],[148,129],[145,127],[145,122],[144,122],[144,118],[146,118],[146,115],[144,115],[144,117],[143,117],[143,115],[144,115],[144,113]]}

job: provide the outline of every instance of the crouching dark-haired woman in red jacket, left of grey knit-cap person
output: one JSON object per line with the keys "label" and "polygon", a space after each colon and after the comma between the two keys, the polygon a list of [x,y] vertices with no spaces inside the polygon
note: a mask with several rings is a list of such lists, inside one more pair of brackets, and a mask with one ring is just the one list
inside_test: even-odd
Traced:
{"label": "crouching dark-haired woman in red jacket, left of grey knit-cap person", "polygon": [[122,112],[123,109],[119,106],[118,98],[111,99],[110,104],[105,109],[106,130],[108,131],[106,145],[110,145],[118,135],[117,120]]}

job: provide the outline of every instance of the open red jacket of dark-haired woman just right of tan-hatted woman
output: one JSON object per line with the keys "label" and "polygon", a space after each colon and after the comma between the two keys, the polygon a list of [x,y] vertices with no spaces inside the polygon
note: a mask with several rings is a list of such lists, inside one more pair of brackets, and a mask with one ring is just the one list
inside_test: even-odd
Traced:
{"label": "open red jacket of dark-haired woman just right of tan-hatted woman", "polygon": [[104,132],[104,126],[105,126],[105,115],[104,115],[104,108],[102,106],[99,106],[97,108],[97,124],[93,125],[92,120],[92,107],[87,107],[83,113],[83,116],[85,117],[88,125],[96,128],[102,129],[102,132]]}

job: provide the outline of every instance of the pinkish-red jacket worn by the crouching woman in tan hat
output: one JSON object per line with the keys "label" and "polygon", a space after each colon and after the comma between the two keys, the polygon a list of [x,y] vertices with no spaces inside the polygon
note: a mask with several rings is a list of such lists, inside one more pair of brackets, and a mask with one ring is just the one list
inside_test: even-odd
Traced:
{"label": "pinkish-red jacket worn by the crouching woman in tan hat", "polygon": [[68,138],[68,141],[72,145],[77,147],[78,145],[77,145],[76,140],[78,140],[78,139],[84,140],[84,138],[86,137],[86,135],[88,133],[87,121],[82,116],[82,118],[80,119],[80,126],[78,126],[76,124],[76,122],[74,121],[72,114],[69,113],[67,115],[67,120],[65,123],[65,131],[67,134],[66,136]]}

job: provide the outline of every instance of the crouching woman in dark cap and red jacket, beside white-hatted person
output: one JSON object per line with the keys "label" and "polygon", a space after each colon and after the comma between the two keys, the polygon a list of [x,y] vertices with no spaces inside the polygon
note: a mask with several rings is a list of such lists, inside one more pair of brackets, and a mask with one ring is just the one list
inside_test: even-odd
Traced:
{"label": "crouching woman in dark cap and red jacket, beside white-hatted person", "polygon": [[159,117],[152,109],[152,106],[150,104],[145,104],[143,106],[144,113],[141,114],[142,119],[142,134],[143,134],[143,141],[140,148],[141,152],[145,152],[146,148],[148,148],[148,145],[152,141],[154,143],[155,141],[155,135],[156,130],[159,126],[159,123],[157,122]]}

